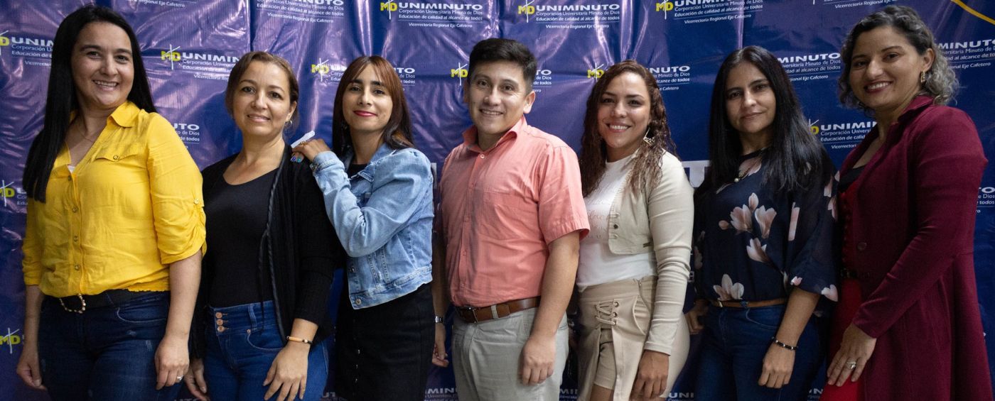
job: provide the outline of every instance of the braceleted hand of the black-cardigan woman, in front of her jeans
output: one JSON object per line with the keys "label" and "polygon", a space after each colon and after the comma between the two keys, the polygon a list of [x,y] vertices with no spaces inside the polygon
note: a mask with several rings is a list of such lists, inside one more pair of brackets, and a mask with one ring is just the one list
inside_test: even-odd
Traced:
{"label": "braceleted hand of the black-cardigan woman, in front of her jeans", "polygon": [[[277,395],[277,401],[292,401],[304,398],[307,387],[307,353],[310,345],[298,341],[287,341],[277,353],[266,373],[264,386],[270,386],[264,399]],[[279,391],[279,394],[278,394]]]}

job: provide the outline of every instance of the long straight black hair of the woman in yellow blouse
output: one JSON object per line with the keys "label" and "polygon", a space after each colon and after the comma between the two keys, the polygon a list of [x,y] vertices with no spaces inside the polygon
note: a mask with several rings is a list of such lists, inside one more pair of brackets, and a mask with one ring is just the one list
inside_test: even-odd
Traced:
{"label": "long straight black hair of the woman in yellow blouse", "polygon": [[45,201],[52,167],[59,150],[66,142],[66,131],[71,122],[70,112],[80,108],[76,84],[73,82],[73,48],[76,47],[83,28],[95,22],[113,24],[127,34],[131,41],[131,64],[134,67],[134,81],[127,99],[147,112],[155,111],[145,65],[141,62],[138,39],[127,21],[113,10],[94,4],[83,6],[67,16],[59,24],[52,43],[52,70],[49,73],[42,131],[31,143],[28,161],[24,166],[24,189],[28,197],[35,201]]}

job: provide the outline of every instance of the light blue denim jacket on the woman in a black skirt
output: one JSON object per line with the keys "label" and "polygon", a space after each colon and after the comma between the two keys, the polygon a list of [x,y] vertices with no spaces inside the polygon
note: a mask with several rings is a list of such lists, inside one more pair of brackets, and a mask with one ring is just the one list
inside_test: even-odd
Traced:
{"label": "light blue denim jacket on the woman in a black skirt", "polygon": [[[344,155],[348,162],[352,155]],[[324,208],[349,255],[353,309],[394,300],[432,281],[432,170],[416,149],[380,145],[361,172],[346,177],[332,152],[311,164]]]}

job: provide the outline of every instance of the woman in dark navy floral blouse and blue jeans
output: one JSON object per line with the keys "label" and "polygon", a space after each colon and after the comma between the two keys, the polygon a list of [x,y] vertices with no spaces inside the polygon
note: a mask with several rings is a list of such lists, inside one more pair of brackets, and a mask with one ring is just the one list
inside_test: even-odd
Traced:
{"label": "woman in dark navy floral blouse and blue jeans", "polygon": [[762,48],[725,59],[710,118],[688,314],[705,334],[697,400],[806,399],[825,356],[812,316],[837,299],[832,162]]}

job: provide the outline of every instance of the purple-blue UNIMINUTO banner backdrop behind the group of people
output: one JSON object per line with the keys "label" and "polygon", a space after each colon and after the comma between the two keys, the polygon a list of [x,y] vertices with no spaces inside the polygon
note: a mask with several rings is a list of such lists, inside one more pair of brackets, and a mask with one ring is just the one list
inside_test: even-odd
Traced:
{"label": "purple-blue UNIMINUTO banner backdrop behind the group of people", "polygon": [[[14,372],[23,340],[21,241],[28,148],[41,129],[52,39],[62,19],[87,2],[0,0],[0,401],[42,400]],[[678,151],[693,184],[707,159],[711,85],[732,50],[759,45],[788,70],[812,133],[839,164],[873,125],[840,106],[840,44],[861,17],[889,4],[914,7],[933,29],[962,84],[955,106],[995,159],[995,3],[985,0],[102,0],[132,25],[159,112],[203,168],[241,147],[224,107],[228,72],[249,51],[278,54],[296,68],[300,118],[289,139],[315,130],[330,140],[342,71],[361,55],[382,55],[404,84],[416,144],[442,163],[470,125],[463,80],[473,45],[503,37],[538,59],[529,122],[575,149],[584,102],[614,63],[649,67],[663,91]],[[975,264],[982,319],[995,330],[995,163],[978,189]],[[340,291],[336,280],[335,291]],[[337,296],[329,300],[334,315]],[[995,340],[988,341],[995,361]],[[694,354],[670,394],[694,400]],[[334,374],[332,372],[331,374]],[[330,381],[329,381],[330,383]],[[813,383],[811,400],[821,393]],[[188,399],[185,392],[180,399]],[[334,400],[330,386],[325,398]],[[456,400],[450,369],[434,369],[428,400]],[[564,381],[562,400],[576,399]]]}

